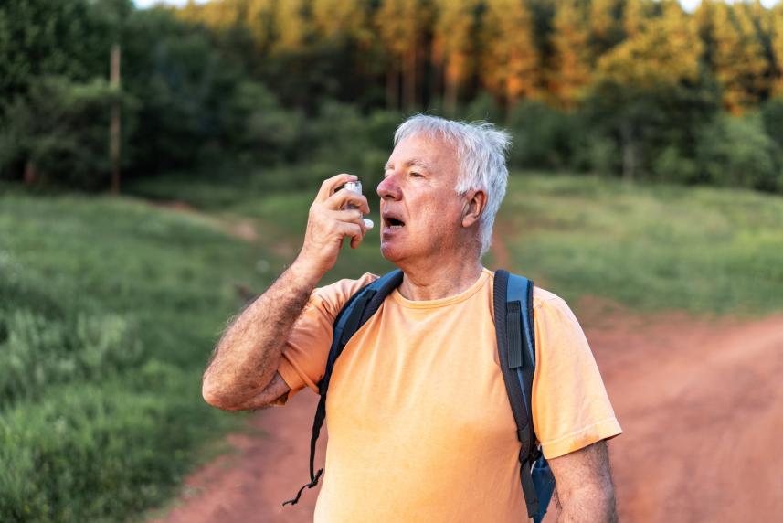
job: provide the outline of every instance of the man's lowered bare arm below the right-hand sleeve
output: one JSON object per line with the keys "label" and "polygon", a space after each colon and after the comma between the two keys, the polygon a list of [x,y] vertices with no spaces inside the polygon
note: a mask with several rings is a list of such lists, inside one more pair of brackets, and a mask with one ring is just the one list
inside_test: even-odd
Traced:
{"label": "man's lowered bare arm below the right-hand sleeve", "polygon": [[617,521],[607,442],[548,460],[555,475],[560,523]]}

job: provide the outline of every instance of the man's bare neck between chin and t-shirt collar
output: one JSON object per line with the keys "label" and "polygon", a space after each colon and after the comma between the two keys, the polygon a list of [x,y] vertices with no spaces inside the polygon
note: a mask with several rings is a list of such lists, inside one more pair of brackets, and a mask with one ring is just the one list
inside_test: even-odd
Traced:
{"label": "man's bare neck between chin and t-shirt collar", "polygon": [[481,259],[477,256],[450,257],[443,260],[406,263],[400,267],[405,276],[399,292],[407,300],[439,300],[470,288],[481,276]]}

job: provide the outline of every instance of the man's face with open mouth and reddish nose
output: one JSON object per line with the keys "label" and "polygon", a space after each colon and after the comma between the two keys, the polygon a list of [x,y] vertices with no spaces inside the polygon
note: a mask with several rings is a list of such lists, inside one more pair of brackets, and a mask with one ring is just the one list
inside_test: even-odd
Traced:
{"label": "man's face with open mouth and reddish nose", "polygon": [[377,188],[386,260],[437,262],[453,252],[462,232],[458,172],[454,147],[441,139],[413,134],[397,144]]}

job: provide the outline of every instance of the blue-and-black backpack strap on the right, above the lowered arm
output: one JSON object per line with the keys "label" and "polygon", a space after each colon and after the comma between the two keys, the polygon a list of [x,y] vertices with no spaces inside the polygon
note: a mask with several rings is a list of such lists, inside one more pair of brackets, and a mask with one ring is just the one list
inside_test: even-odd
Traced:
{"label": "blue-and-black backpack strap on the right, above the lowered arm", "polygon": [[532,475],[538,457],[532,405],[535,371],[533,282],[503,270],[495,272],[493,303],[500,367],[521,443],[520,482],[527,515],[534,518],[540,513],[541,505]]}

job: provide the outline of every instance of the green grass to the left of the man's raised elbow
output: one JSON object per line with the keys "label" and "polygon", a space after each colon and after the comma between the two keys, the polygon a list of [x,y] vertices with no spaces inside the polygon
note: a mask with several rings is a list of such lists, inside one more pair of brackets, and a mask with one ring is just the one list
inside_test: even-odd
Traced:
{"label": "green grass to the left of the man's raised elbow", "polygon": [[122,521],[239,418],[200,373],[272,254],[123,198],[0,197],[0,520]]}

